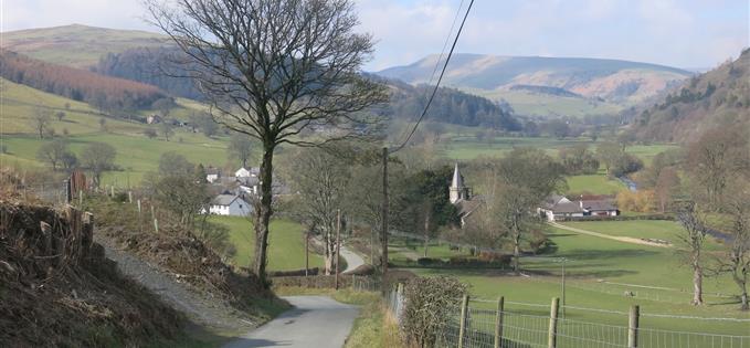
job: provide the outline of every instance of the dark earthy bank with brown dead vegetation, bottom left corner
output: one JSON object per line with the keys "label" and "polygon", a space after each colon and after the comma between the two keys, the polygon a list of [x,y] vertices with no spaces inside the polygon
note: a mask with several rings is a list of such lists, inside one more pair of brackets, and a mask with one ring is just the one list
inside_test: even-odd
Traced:
{"label": "dark earthy bank with brown dead vegetation, bottom left corner", "polygon": [[0,346],[142,346],[180,330],[181,316],[124,278],[80,214],[7,198],[0,214]]}

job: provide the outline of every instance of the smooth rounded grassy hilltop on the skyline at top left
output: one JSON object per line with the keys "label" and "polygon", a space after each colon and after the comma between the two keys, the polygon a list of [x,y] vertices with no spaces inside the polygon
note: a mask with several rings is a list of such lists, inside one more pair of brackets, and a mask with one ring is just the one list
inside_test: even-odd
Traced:
{"label": "smooth rounded grassy hilltop on the skyline at top left", "polygon": [[2,33],[2,48],[50,63],[89,67],[107,53],[133,48],[161,48],[169,38],[138,30],[72,24]]}

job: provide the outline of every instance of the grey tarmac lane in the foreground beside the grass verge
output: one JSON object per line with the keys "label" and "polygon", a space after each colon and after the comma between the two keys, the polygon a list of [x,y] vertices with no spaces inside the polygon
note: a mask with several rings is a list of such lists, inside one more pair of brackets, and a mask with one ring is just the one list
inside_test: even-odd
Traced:
{"label": "grey tarmac lane in the foreground beside the grass verge", "polygon": [[342,347],[359,313],[356,306],[327,296],[289,296],[284,299],[295,308],[223,347]]}

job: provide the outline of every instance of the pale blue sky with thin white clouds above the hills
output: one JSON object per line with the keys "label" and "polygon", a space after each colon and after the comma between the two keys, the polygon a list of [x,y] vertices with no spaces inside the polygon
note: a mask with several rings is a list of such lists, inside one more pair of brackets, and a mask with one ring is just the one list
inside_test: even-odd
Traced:
{"label": "pale blue sky with thin white clouds above the hills", "polygon": [[[469,0],[355,0],[366,71],[440,53]],[[157,31],[139,0],[0,0],[0,31],[71,23]],[[456,24],[457,28],[457,24]],[[455,31],[455,30],[454,30]],[[1,38],[0,38],[1,39]],[[748,0],[475,0],[456,52],[621,59],[707,68],[750,46]]]}

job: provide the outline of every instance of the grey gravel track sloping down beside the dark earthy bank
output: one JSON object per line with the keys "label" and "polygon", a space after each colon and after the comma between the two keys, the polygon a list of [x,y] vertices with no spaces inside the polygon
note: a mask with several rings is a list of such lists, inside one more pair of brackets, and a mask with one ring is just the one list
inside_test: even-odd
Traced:
{"label": "grey gravel track sloping down beside the dark earthy bank", "polygon": [[159,295],[172,308],[184,313],[190,319],[223,330],[246,331],[255,326],[241,312],[224,304],[223,299],[198,292],[177,276],[126,251],[107,245],[102,239],[96,239],[96,242],[104,245],[107,259],[115,261],[123,274]]}

